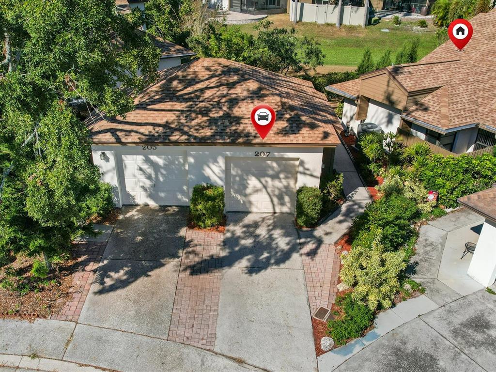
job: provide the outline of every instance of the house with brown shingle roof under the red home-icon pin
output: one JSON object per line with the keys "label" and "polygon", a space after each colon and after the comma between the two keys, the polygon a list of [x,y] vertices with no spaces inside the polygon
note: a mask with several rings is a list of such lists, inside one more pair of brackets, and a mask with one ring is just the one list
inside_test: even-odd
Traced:
{"label": "house with brown shingle roof under the red home-icon pin", "polygon": [[439,152],[489,151],[496,144],[496,9],[471,19],[472,40],[447,41],[420,62],[389,66],[326,87],[344,97],[343,125],[361,122],[425,140]]}

